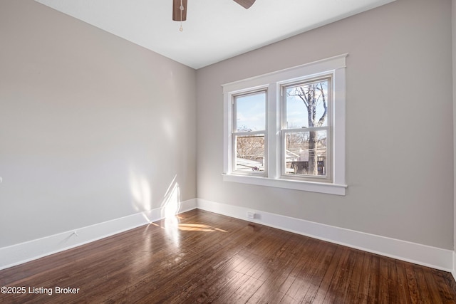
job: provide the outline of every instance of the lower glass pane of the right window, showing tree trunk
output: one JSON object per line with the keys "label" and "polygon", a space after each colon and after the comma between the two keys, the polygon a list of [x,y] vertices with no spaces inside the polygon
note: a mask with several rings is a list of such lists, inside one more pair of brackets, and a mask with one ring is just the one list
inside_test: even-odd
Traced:
{"label": "lower glass pane of the right window, showing tree trunk", "polygon": [[285,173],[326,176],[326,137],[326,130],[286,133]]}

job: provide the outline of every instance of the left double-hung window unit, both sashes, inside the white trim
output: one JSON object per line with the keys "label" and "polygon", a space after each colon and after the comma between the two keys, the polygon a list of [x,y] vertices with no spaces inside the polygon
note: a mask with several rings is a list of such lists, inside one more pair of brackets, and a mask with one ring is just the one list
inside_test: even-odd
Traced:
{"label": "left double-hung window unit, both sashes, inside the white trim", "polygon": [[233,95],[233,172],[265,174],[266,90]]}

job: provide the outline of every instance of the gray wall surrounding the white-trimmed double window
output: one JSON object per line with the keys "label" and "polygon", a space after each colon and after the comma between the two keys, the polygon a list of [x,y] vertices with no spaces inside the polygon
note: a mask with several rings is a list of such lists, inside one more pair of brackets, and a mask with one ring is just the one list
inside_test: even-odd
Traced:
{"label": "gray wall surrounding the white-trimmed double window", "polygon": [[[398,0],[197,70],[197,196],[453,248],[451,1]],[[222,181],[222,88],[347,58],[346,196]]]}

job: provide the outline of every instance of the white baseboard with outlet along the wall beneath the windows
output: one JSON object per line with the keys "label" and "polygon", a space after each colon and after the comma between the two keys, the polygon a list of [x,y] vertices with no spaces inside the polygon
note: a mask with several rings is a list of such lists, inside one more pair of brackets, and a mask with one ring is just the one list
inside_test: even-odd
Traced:
{"label": "white baseboard with outlet along the wall beneath the windows", "polygon": [[[279,214],[247,209],[239,206],[219,204],[214,201],[197,199],[198,209],[212,211],[217,214],[231,216],[245,221],[252,221],[265,226],[294,232],[315,239],[338,243],[343,246],[361,249],[381,256],[416,263],[453,273],[455,252],[447,249],[426,246],[419,243],[391,239],[385,236],[366,234],[360,231],[318,224],[303,219],[295,219]],[[247,219],[247,211],[254,212],[254,219]],[[456,276],[455,276],[456,278]]]}

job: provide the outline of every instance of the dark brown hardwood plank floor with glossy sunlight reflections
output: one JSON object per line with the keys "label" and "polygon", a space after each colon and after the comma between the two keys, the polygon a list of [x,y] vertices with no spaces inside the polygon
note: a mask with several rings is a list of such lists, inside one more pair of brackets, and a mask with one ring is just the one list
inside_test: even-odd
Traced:
{"label": "dark brown hardwood plank floor with glossy sunlight reflections", "polygon": [[456,303],[450,273],[201,210],[7,268],[0,286],[26,288],[0,303]]}

